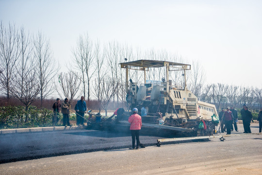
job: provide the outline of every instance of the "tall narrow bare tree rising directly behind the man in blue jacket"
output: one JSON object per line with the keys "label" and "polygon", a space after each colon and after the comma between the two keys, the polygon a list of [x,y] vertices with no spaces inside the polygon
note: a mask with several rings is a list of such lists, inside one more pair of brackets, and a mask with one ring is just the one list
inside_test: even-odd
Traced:
{"label": "tall narrow bare tree rising directly behind the man in blue jacket", "polygon": [[92,41],[90,41],[88,34],[82,36],[79,36],[79,39],[77,41],[77,46],[75,49],[72,50],[72,53],[74,55],[74,61],[76,62],[77,66],[76,69],[80,70],[81,76],[82,76],[82,84],[83,84],[83,95],[85,98],[86,92],[86,82],[85,77],[87,77],[87,102],[90,101],[90,82],[91,78],[94,74],[94,70],[92,70],[92,63],[94,60],[93,55],[93,44]]}

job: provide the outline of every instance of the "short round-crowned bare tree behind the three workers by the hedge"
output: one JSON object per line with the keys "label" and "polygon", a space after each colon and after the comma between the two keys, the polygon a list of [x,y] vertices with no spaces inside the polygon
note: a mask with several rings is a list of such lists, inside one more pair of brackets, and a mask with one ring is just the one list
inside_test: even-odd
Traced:
{"label": "short round-crowned bare tree behind the three workers by the hedge", "polygon": [[[78,99],[78,91],[81,85],[81,77],[78,73],[70,70],[68,73],[59,74],[59,85],[56,86],[56,90],[60,97],[66,97],[69,104],[73,101],[74,98]],[[62,89],[62,90],[61,90]]]}

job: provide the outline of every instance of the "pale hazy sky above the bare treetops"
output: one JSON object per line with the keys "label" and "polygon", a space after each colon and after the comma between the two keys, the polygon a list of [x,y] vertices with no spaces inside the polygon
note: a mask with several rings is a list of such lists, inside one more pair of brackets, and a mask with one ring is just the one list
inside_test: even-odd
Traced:
{"label": "pale hazy sky above the bare treetops", "polygon": [[199,61],[207,84],[261,88],[261,9],[262,0],[0,0],[0,20],[43,32],[62,66],[88,33]]}

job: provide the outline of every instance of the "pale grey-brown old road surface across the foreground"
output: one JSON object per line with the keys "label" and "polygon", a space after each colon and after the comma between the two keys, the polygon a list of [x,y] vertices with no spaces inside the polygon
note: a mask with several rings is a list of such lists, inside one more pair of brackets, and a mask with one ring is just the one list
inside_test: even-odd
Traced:
{"label": "pale grey-brown old road surface across the foreground", "polygon": [[262,175],[262,135],[0,164],[1,175]]}

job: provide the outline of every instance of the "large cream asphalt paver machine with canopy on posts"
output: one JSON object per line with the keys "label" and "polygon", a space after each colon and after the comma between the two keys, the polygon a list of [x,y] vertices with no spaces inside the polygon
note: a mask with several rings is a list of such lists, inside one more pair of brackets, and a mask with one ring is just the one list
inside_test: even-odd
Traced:
{"label": "large cream asphalt paver machine with canopy on posts", "polygon": [[[191,133],[195,136],[213,135],[215,123],[213,116],[218,116],[215,105],[198,101],[186,84],[186,72],[191,65],[169,61],[137,60],[120,63],[126,70],[125,88],[129,110],[121,117],[127,121],[133,107],[138,108],[143,126]],[[163,69],[164,67],[164,69]],[[165,71],[161,81],[146,80],[149,69]],[[144,83],[138,86],[129,78],[130,70],[144,71]],[[170,71],[183,71],[183,86],[172,85]],[[118,119],[119,120],[119,119]],[[204,123],[204,128],[199,124]]]}

